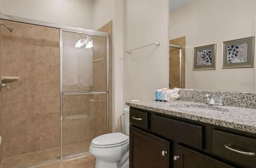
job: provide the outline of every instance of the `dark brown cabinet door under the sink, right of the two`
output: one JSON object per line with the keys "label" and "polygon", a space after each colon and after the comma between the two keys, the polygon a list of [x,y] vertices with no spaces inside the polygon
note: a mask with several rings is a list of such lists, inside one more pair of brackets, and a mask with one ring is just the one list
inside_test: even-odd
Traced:
{"label": "dark brown cabinet door under the sink, right of the two", "polygon": [[180,145],[176,145],[174,156],[179,156],[173,162],[174,168],[234,168]]}

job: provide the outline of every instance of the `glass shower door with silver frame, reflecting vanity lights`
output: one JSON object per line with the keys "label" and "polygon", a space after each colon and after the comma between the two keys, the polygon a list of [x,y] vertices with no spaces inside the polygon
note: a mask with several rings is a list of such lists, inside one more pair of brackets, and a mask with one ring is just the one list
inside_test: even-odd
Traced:
{"label": "glass shower door with silver frame, reflecting vanity lights", "polygon": [[62,30],[62,157],[107,133],[107,38]]}

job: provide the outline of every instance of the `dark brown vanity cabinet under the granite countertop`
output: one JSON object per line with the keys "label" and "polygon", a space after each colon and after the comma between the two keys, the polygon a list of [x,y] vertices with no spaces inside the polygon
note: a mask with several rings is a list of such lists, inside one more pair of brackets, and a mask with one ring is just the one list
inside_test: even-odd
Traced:
{"label": "dark brown vanity cabinet under the granite countertop", "polygon": [[254,152],[253,133],[130,107],[130,168],[256,168]]}

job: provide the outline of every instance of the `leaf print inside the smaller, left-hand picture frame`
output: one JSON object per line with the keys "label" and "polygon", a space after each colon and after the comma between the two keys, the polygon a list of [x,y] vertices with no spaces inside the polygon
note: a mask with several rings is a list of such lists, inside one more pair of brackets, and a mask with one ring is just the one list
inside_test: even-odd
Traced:
{"label": "leaf print inside the smaller, left-hand picture frame", "polygon": [[212,50],[197,51],[197,65],[211,65],[212,64]]}

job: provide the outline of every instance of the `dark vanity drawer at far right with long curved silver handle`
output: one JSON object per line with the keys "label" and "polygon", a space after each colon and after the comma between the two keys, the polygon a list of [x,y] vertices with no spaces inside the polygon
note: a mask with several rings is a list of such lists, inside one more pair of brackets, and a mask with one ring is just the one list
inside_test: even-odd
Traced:
{"label": "dark vanity drawer at far right with long curved silver handle", "polygon": [[243,167],[255,168],[255,153],[256,139],[212,130],[212,154],[231,160]]}

